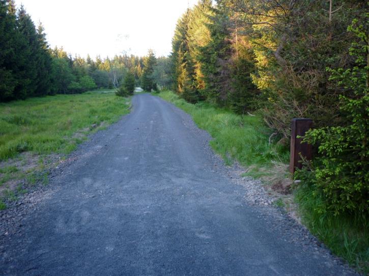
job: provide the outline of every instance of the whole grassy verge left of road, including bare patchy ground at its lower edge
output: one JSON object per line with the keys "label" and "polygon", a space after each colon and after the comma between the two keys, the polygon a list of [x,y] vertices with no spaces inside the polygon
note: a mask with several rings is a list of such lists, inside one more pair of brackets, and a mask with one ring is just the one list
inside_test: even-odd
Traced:
{"label": "whole grassy verge left of road, including bare patchy ground at its lower edge", "polygon": [[[47,183],[47,168],[89,133],[128,113],[128,98],[88,91],[0,104],[0,191],[12,198],[19,179]],[[4,204],[0,202],[0,209]]]}

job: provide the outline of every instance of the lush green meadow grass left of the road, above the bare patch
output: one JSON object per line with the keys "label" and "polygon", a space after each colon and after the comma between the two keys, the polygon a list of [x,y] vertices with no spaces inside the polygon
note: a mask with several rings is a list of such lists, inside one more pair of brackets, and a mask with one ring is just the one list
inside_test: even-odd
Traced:
{"label": "lush green meadow grass left of the road, above the bare patch", "polygon": [[91,126],[110,124],[128,112],[128,100],[112,91],[56,95],[0,104],[0,161],[20,152],[68,154]]}

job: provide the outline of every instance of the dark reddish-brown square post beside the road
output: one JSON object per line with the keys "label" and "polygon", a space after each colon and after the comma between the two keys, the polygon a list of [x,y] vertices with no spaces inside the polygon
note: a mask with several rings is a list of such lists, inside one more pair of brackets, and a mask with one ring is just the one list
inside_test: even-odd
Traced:
{"label": "dark reddish-brown square post beside the road", "polygon": [[307,160],[311,160],[312,147],[308,143],[302,143],[301,138],[297,136],[304,136],[305,132],[313,126],[312,119],[295,118],[292,119],[292,133],[291,133],[291,156],[290,156],[290,172],[293,174],[296,168],[302,168],[300,154]]}

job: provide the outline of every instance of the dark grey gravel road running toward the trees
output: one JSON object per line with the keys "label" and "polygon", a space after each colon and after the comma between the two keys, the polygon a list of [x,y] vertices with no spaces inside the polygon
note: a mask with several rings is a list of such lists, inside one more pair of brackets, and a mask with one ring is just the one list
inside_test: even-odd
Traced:
{"label": "dark grey gravel road running toward the trees", "polygon": [[132,103],[0,212],[0,274],[355,274],[235,179],[189,115],[148,94]]}

